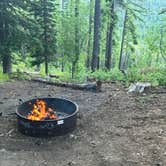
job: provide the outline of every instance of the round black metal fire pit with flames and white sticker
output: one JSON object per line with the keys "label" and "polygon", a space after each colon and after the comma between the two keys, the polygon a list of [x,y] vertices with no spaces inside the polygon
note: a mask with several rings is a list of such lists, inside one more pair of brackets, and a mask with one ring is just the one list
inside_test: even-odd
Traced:
{"label": "round black metal fire pit with flames and white sticker", "polygon": [[78,106],[66,99],[32,99],[16,110],[18,129],[30,136],[63,135],[76,127],[77,112]]}

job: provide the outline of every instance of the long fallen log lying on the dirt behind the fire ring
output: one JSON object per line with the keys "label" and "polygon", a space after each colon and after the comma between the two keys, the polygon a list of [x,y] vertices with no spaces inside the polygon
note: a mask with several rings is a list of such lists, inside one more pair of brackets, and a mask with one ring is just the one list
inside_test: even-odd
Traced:
{"label": "long fallen log lying on the dirt behind the fire ring", "polygon": [[68,88],[77,89],[77,90],[89,90],[89,91],[95,91],[95,92],[100,92],[101,86],[102,86],[101,81],[96,81],[94,83],[83,83],[83,84],[66,83],[61,81],[51,81],[51,80],[46,80],[43,78],[31,78],[31,81],[40,82],[40,83],[44,83],[48,85],[60,86],[60,87],[68,87]]}

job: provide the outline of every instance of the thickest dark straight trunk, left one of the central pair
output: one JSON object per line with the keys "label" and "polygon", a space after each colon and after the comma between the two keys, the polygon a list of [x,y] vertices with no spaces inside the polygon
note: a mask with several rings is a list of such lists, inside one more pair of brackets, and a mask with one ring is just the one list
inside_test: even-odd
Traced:
{"label": "thickest dark straight trunk, left one of the central pair", "polygon": [[91,69],[94,72],[98,66],[98,56],[100,52],[100,0],[95,0],[95,14],[94,14],[94,39],[93,39],[93,53]]}

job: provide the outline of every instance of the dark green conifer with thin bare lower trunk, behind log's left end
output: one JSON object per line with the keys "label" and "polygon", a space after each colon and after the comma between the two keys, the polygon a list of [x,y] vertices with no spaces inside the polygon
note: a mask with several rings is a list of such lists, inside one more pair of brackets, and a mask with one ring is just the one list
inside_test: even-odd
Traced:
{"label": "dark green conifer with thin bare lower trunk, behind log's left end", "polygon": [[[34,64],[45,63],[45,74],[48,74],[48,63],[56,54],[56,1],[55,0],[34,0],[31,1],[31,13],[38,25],[35,48],[33,56]],[[34,34],[35,35],[35,34]]]}

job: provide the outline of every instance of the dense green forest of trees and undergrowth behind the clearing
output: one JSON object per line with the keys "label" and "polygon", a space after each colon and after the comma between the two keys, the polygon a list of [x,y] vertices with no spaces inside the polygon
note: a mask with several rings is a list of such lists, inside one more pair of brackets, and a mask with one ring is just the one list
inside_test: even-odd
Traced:
{"label": "dense green forest of trees and undergrowth behind the clearing", "polygon": [[36,71],[166,85],[166,1],[1,0],[0,62],[0,80]]}

